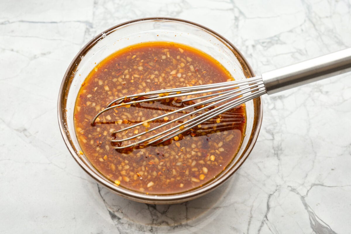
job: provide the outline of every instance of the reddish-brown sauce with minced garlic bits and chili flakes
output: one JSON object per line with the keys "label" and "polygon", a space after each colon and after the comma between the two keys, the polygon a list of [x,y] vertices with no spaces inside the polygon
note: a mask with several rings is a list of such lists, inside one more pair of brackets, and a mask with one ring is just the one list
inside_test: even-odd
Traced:
{"label": "reddish-brown sauce with minced garlic bits and chili flakes", "polygon": [[[236,155],[246,127],[245,106],[179,135],[168,145],[133,151],[115,150],[112,131],[184,104],[168,100],[122,107],[100,115],[95,126],[91,121],[108,103],[126,95],[228,80],[233,78],[220,63],[185,45],[148,42],[115,52],[97,64],[79,91],[74,124],[81,153],[116,186],[137,192],[173,194],[202,186],[220,174]],[[114,137],[129,137],[135,131]],[[141,127],[138,131],[145,130]]]}

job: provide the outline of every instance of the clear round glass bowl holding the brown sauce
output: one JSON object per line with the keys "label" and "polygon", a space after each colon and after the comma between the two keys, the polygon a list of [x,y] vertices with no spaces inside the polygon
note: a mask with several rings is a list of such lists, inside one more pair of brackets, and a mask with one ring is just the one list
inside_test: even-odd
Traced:
{"label": "clear round glass bowl holding the brown sauce", "polygon": [[199,49],[219,61],[236,80],[254,76],[244,56],[228,40],[211,29],[193,22],[171,18],[145,18],[114,26],[89,41],[75,56],[62,80],[58,97],[58,120],[67,148],[78,164],[99,183],[118,195],[138,202],[170,204],[202,196],[226,181],[243,164],[251,152],[261,126],[261,98],[246,102],[247,126],[243,143],[229,166],[217,178],[196,189],[178,194],[149,195],[134,192],[105,178],[80,155],[73,116],[77,94],[94,66],[119,49],[140,42],[172,41]]}

